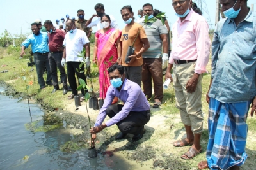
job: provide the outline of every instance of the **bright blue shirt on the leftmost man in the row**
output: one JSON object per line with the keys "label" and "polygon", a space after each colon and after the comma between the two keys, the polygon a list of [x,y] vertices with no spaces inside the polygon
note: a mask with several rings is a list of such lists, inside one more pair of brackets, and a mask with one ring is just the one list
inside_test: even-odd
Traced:
{"label": "bright blue shirt on the leftmost man in the row", "polygon": [[26,48],[28,48],[29,45],[31,45],[33,53],[49,52],[47,33],[40,31],[38,36],[30,34],[28,38],[21,44],[21,46],[25,46]]}

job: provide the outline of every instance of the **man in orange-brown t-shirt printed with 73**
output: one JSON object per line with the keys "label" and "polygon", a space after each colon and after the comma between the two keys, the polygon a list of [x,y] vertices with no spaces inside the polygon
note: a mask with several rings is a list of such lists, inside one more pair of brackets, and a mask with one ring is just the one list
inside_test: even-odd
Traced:
{"label": "man in orange-brown t-shirt printed with 73", "polygon": [[[134,81],[141,86],[141,71],[142,71],[142,53],[149,48],[149,42],[144,28],[134,22],[134,13],[131,6],[124,6],[121,9],[121,15],[125,25],[121,34],[122,41],[122,56],[117,62],[124,66],[125,78]],[[129,62],[125,62],[128,48],[135,48],[134,53],[129,54]]]}

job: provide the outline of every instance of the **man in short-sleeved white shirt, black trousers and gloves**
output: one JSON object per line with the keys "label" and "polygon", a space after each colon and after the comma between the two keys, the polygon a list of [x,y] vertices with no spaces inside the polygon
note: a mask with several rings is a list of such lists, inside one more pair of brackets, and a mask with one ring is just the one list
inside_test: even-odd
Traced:
{"label": "man in short-sleeved white shirt, black trousers and gloves", "polygon": [[[79,68],[81,61],[86,63],[86,67],[90,66],[90,43],[84,31],[76,28],[74,20],[67,20],[66,22],[67,34],[63,45],[65,46],[63,51],[63,59],[61,60],[62,66],[67,62],[67,76],[68,82],[72,89],[72,94],[68,96],[68,99],[73,99],[77,95],[77,83],[76,77],[81,78],[86,82],[86,77],[84,74],[84,64]],[[80,52],[85,48],[86,53],[84,57],[79,57]],[[80,69],[80,71],[79,71]],[[78,71],[79,72],[78,72]],[[81,101],[84,100],[84,89],[81,89],[82,97]]]}

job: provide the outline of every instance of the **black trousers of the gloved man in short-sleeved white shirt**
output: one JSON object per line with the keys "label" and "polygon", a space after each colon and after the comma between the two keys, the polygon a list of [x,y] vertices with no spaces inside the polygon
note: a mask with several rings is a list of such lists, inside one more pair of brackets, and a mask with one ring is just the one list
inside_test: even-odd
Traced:
{"label": "black trousers of the gloved man in short-sleeved white shirt", "polygon": [[[78,73],[76,69],[79,69],[79,64],[80,62],[73,62],[73,61],[68,61],[67,62],[67,76],[68,76],[68,82],[69,82],[69,85],[72,89],[72,93],[74,95],[77,95],[77,83],[76,83],[76,77],[75,77],[75,74],[78,78],[78,75],[79,75],[79,78],[83,79],[86,83],[86,77],[85,77],[85,74],[84,74],[84,64],[82,65],[81,67],[81,71],[83,73]],[[86,92],[88,92],[88,90],[86,90],[84,92],[84,89],[81,89],[81,92],[82,92],[82,95],[84,96]]]}

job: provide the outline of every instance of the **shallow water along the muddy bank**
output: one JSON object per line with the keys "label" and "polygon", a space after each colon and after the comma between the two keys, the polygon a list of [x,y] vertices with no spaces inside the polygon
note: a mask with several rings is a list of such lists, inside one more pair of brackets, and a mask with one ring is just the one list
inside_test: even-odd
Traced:
{"label": "shallow water along the muddy bank", "polygon": [[[0,92],[3,92],[0,87]],[[112,157],[99,154],[88,159],[88,150],[64,153],[59,146],[72,139],[65,122],[63,127],[50,132],[31,132],[26,123],[40,120],[44,112],[37,104],[18,102],[0,94],[0,169],[137,169],[138,164],[127,162],[120,154]],[[23,160],[24,156],[28,160]]]}

